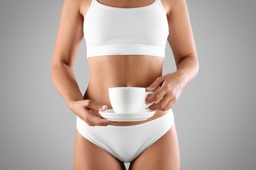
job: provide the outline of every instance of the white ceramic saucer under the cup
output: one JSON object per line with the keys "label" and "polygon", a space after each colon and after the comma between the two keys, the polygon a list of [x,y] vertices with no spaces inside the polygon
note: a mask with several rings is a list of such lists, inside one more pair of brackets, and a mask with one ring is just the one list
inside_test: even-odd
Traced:
{"label": "white ceramic saucer under the cup", "polygon": [[99,111],[98,113],[103,117],[115,122],[134,122],[147,120],[155,114],[155,110],[144,109],[138,113],[115,113],[113,109]]}

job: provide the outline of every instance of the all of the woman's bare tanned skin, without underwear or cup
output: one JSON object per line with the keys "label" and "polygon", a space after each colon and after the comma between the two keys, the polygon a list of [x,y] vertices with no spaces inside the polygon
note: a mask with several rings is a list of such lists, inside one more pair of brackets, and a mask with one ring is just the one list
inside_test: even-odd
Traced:
{"label": "all of the woman's bare tanned skin, without underwear or cup", "polygon": [[[112,7],[134,8],[153,0],[100,0]],[[54,48],[52,77],[56,90],[70,109],[89,126],[127,126],[154,120],[177,102],[182,88],[198,73],[198,58],[184,0],[161,0],[169,23],[168,41],[177,71],[162,75],[163,58],[154,56],[98,56],[89,58],[90,81],[85,94],[79,91],[73,71],[75,56],[83,40],[83,18],[90,0],[65,0]],[[168,57],[168,56],[166,56]],[[141,122],[111,122],[98,114],[110,109],[108,88],[139,86],[154,92],[148,95],[156,114]],[[153,160],[152,160],[153,159]],[[150,160],[150,161],[148,161]],[[130,169],[179,169],[179,144],[175,125],[156,143],[131,162]],[[74,146],[74,169],[124,169],[123,163],[95,146],[78,132]]]}

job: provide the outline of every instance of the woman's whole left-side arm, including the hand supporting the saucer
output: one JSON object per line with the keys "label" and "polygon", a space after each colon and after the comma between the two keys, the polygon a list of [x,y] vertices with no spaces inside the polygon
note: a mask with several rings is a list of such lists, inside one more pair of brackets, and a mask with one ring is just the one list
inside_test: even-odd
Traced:
{"label": "woman's whole left-side arm, including the hand supporting the saucer", "polygon": [[65,0],[52,62],[53,84],[70,109],[91,126],[108,125],[112,122],[100,118],[98,110],[106,110],[90,100],[84,100],[74,75],[77,50],[83,39],[83,15],[79,0]]}

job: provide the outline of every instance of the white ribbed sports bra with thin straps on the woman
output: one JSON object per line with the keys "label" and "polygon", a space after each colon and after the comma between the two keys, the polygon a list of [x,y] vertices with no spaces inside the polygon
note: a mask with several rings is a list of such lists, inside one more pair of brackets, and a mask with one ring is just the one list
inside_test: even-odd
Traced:
{"label": "white ribbed sports bra with thin straps on the woman", "polygon": [[109,55],[165,57],[169,35],[161,0],[136,8],[110,7],[92,0],[84,18],[87,58]]}

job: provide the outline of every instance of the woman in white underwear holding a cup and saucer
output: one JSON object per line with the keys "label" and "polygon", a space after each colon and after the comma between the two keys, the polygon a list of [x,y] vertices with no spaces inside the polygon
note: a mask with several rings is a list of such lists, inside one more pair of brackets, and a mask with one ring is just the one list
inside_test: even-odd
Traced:
{"label": "woman in white underwear holding a cup and saucer", "polygon": [[[85,37],[90,80],[84,95],[73,71]],[[162,75],[165,42],[177,71]],[[179,169],[171,107],[198,73],[185,0],[65,0],[54,48],[56,90],[77,115],[74,169]],[[112,122],[108,88],[144,87],[156,113],[148,120]],[[150,142],[148,142],[150,141]]]}

